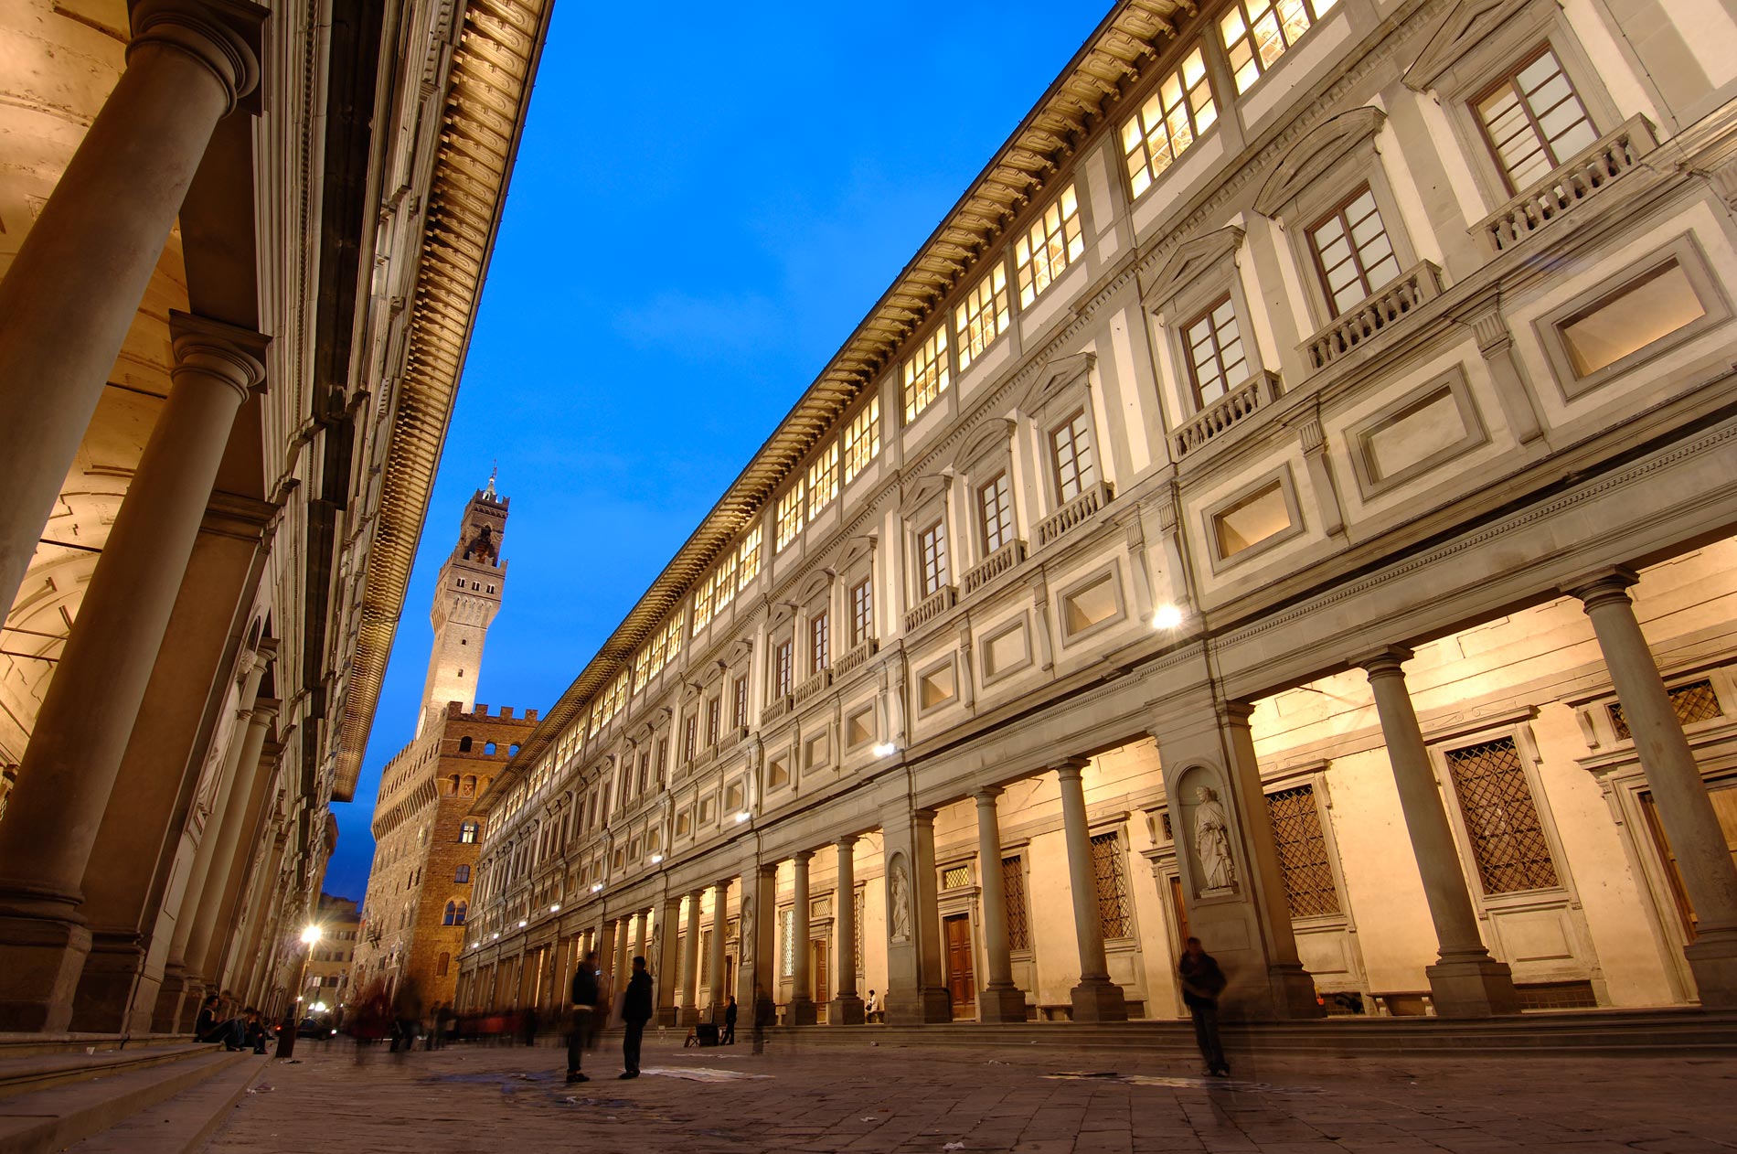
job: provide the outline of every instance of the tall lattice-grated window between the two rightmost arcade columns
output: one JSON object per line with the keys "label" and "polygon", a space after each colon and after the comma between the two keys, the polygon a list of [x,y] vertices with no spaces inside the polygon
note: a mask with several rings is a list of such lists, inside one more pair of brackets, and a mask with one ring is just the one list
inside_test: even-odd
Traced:
{"label": "tall lattice-grated window between the two rightmost arcade columns", "polygon": [[1516,893],[1560,885],[1515,739],[1449,749],[1447,770],[1466,817],[1483,892]]}

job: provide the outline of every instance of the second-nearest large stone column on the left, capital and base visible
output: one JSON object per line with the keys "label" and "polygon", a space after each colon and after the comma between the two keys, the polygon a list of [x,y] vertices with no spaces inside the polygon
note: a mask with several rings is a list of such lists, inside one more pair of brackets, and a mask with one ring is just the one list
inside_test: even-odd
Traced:
{"label": "second-nearest large stone column on the left, capital and base visible", "polygon": [[[90,577],[0,822],[0,1031],[56,1032],[71,1020],[73,989],[90,951],[90,930],[78,914],[80,879],[234,414],[264,375],[257,334],[184,313],[170,323],[174,386]],[[68,341],[68,334],[56,339]],[[10,419],[7,428],[16,428]],[[45,839],[42,831],[56,836]]]}

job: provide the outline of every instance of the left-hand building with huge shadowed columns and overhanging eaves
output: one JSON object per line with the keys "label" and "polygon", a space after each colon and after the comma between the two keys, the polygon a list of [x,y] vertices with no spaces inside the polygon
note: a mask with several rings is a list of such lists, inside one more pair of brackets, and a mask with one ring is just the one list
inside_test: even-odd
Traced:
{"label": "left-hand building with huge shadowed columns and overhanging eaves", "polygon": [[0,5],[0,1034],[301,992],[547,17]]}

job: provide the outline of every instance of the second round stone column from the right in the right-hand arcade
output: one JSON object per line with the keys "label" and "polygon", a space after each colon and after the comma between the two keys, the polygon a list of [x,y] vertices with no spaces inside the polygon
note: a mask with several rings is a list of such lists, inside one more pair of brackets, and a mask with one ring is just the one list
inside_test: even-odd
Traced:
{"label": "second round stone column from the right in the right-hand arcade", "polygon": [[1381,737],[1388,746],[1400,810],[1405,813],[1405,831],[1410,834],[1430,919],[1435,923],[1440,956],[1436,965],[1424,968],[1430,999],[1440,1017],[1518,1013],[1520,996],[1508,966],[1490,958],[1478,937],[1478,919],[1466,890],[1459,850],[1454,846],[1454,831],[1447,824],[1417,713],[1405,690],[1402,666],[1410,655],[1407,648],[1390,647],[1360,657],[1355,664],[1369,673],[1369,688],[1381,716]]}

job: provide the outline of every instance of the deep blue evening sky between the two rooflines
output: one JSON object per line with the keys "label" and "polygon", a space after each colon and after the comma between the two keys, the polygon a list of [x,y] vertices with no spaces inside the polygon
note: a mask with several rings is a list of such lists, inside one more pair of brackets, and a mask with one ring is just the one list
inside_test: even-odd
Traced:
{"label": "deep blue evening sky between the two rooflines", "polygon": [[490,466],[511,567],[478,700],[542,711],[1106,9],[556,2],[328,892],[367,888],[434,574]]}

